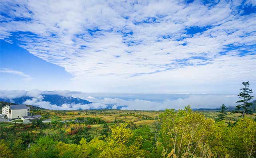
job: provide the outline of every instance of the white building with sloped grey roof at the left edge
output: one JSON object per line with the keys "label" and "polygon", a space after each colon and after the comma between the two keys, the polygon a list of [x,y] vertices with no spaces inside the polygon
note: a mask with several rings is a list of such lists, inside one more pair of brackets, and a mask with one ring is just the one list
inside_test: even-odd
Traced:
{"label": "white building with sloped grey roof at the left edge", "polygon": [[2,114],[6,114],[8,119],[19,119],[28,116],[29,110],[26,105],[6,105],[2,107]]}

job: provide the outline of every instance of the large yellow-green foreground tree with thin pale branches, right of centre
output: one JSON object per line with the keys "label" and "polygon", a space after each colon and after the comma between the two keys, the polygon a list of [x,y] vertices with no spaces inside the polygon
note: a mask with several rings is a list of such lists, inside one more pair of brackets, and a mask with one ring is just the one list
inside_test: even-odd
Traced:
{"label": "large yellow-green foreground tree with thin pale branches, right of centre", "polygon": [[174,112],[174,109],[166,109],[160,115],[160,120],[160,141],[165,150],[163,155],[166,152],[169,153],[167,157],[173,158],[202,156],[201,150],[208,147],[206,139],[213,133],[214,120],[193,112],[190,106],[179,110],[178,113]]}

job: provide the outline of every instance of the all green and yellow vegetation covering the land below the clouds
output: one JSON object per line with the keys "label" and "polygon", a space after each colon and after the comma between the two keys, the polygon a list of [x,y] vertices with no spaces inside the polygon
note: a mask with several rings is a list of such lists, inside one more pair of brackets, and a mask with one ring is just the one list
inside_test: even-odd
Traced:
{"label": "all green and yellow vegetation covering the land below the clouds", "polygon": [[[238,111],[32,109],[51,120],[0,122],[0,158],[256,158],[256,101]],[[6,105],[7,103],[2,103]],[[252,110],[252,112],[254,112]]]}

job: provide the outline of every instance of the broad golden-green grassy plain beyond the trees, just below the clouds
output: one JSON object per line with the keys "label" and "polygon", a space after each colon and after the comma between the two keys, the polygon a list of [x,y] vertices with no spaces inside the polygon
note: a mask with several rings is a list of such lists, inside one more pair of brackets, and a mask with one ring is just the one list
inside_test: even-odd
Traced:
{"label": "broad golden-green grassy plain beyond the trees, just below the clouds", "polygon": [[[164,111],[129,111],[129,110],[80,110],[80,111],[55,111],[55,110],[38,110],[34,111],[36,115],[42,115],[43,119],[51,119],[53,122],[86,119],[88,117],[101,118],[107,123],[113,123],[115,120],[119,122],[134,122],[135,124],[152,124],[152,120],[158,119],[158,116]],[[203,113],[207,118],[216,119],[218,111],[198,111]],[[227,121],[234,122],[241,117],[240,113],[228,112]],[[246,117],[255,119],[256,113],[246,115]]]}

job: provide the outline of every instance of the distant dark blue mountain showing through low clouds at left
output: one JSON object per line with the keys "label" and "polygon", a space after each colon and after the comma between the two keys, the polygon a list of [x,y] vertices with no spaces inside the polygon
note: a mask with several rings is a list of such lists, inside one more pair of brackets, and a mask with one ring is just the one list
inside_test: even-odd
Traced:
{"label": "distant dark blue mountain showing through low clouds at left", "polygon": [[[15,103],[15,104],[23,104],[27,100],[32,100],[33,97],[18,97],[18,98],[13,98],[13,99],[8,99],[8,98],[0,98],[0,101],[4,102],[10,102],[10,103]],[[48,101],[52,105],[57,105],[61,106],[62,104],[90,104],[92,102],[87,101],[85,99],[80,99],[80,98],[74,98],[74,97],[65,97],[62,95],[42,95],[42,101]]]}

